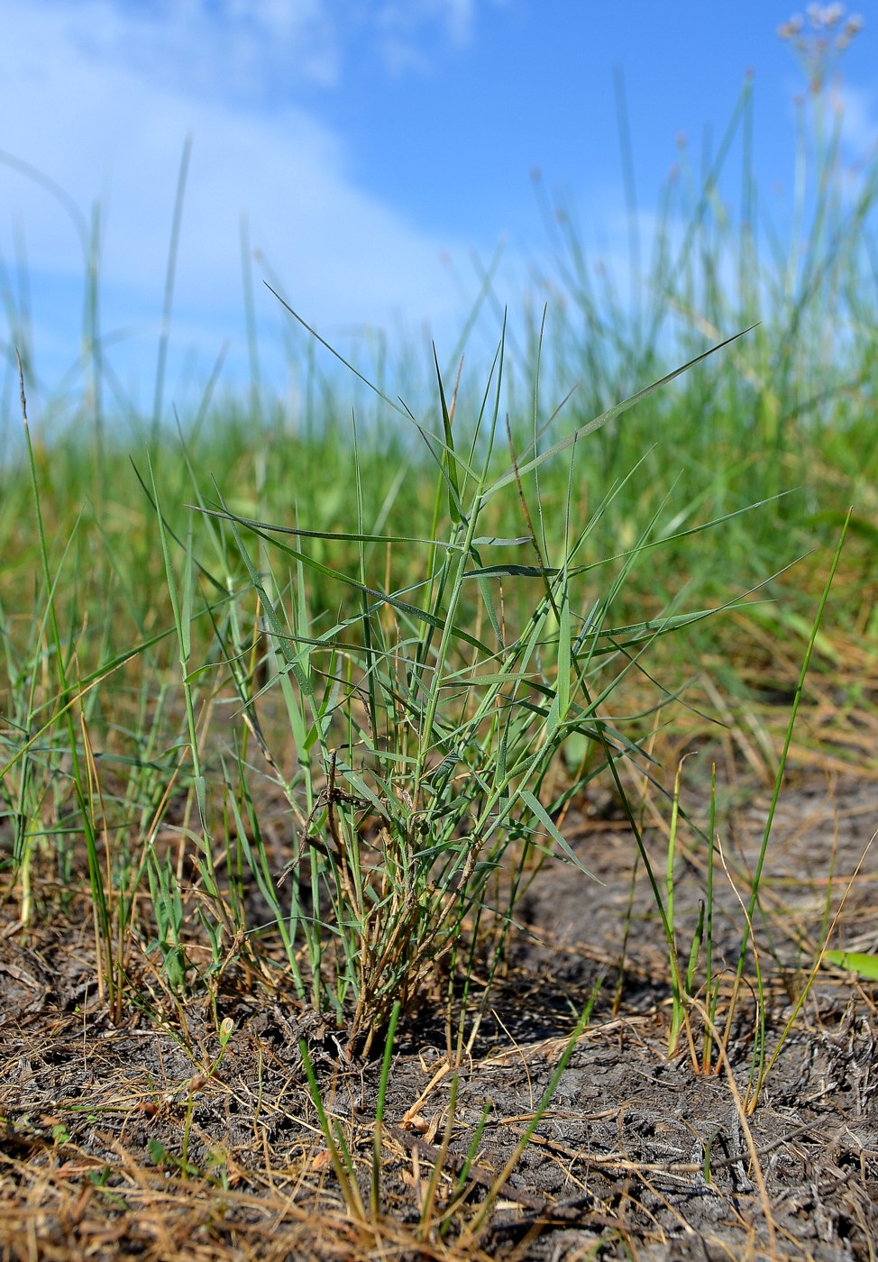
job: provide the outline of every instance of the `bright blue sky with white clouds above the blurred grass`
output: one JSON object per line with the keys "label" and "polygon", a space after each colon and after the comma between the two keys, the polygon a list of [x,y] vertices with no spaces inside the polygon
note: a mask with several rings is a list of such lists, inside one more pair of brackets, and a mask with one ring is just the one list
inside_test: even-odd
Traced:
{"label": "bright blue sky with white clouds above the blurred grass", "polygon": [[[257,251],[262,376],[279,395],[290,389],[286,318],[262,276],[354,351],[349,334],[366,328],[383,329],[392,346],[424,331],[450,343],[478,288],[473,251],[487,261],[506,242],[496,288],[512,310],[531,269],[549,266],[534,169],[553,198],[575,207],[595,256],[622,265],[619,76],[646,236],[679,138],[698,168],[748,73],[759,196],[788,206],[793,98],[805,81],[777,27],[795,8],[0,0],[0,150],[13,159],[0,163],[0,260],[13,305],[28,313],[32,389],[48,398],[77,361],[83,244],[68,211],[82,233],[100,206],[106,353],[149,409],[187,136],[167,400],[187,396],[187,380],[206,380],[226,339],[223,380],[246,380],[243,216]],[[850,160],[878,138],[878,23],[870,4],[858,8],[865,25],[843,62]],[[21,164],[63,191],[68,208]],[[23,336],[9,324],[6,312],[6,352]],[[496,334],[495,324],[486,346]]]}

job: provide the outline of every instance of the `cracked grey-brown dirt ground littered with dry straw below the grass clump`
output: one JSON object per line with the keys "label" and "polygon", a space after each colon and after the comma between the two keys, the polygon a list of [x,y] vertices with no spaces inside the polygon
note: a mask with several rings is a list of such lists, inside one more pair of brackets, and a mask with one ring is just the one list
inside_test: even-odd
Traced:
{"label": "cracked grey-brown dirt ground littered with dry straw below the grass clump", "polygon": [[[734,886],[746,890],[768,800],[766,793],[742,803],[729,793],[718,818],[729,872],[717,872],[714,973],[727,970],[720,1027],[742,933]],[[555,861],[535,876],[508,969],[457,1074],[448,1069],[439,1007],[399,1032],[377,1217],[370,1213],[377,1060],[348,1063],[325,1022],[283,989],[232,984],[231,973],[216,1010],[202,998],[175,1012],[158,989],[150,1003],[145,978],[143,1006],[114,1026],[95,994],[88,919],[44,925],[25,941],[8,907],[0,1258],[873,1262],[874,984],[821,968],[748,1111],[753,958],[728,1065],[714,1054],[715,1071],[698,1071],[685,1032],[669,1058],[667,948],[652,895],[642,870],[632,893],[636,851],[612,800],[582,806],[565,820],[566,835],[603,883]],[[768,1056],[841,904],[830,945],[878,949],[878,848],[852,886],[875,828],[870,780],[807,774],[782,796],[754,925],[770,998]],[[665,840],[657,827],[646,835],[664,872]],[[703,848],[681,840],[681,952],[704,882]],[[505,1170],[600,978],[590,1023],[551,1103]],[[233,1031],[216,1065],[225,1017]],[[346,1204],[357,1193],[339,1185],[307,1089],[303,1036],[349,1148],[361,1220]],[[698,1055],[704,1037],[695,1013]],[[455,1196],[457,1210],[445,1214]]]}

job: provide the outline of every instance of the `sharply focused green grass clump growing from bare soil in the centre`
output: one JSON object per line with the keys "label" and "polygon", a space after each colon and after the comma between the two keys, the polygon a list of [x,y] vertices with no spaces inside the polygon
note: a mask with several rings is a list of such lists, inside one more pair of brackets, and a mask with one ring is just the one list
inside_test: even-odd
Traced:
{"label": "sharply focused green grass clump growing from bare soil in the centre", "polygon": [[[275,771],[284,752],[294,760],[281,777],[298,833],[285,870],[289,912],[279,917],[286,958],[300,997],[344,1021],[348,1046],[365,1054],[394,1003],[418,1006],[464,930],[493,923],[496,965],[522,880],[547,851],[582,866],[555,817],[608,764],[640,757],[642,716],[627,724],[611,717],[613,690],[641,669],[652,641],[705,616],[665,611],[617,622],[619,592],[652,544],[653,522],[602,587],[580,560],[594,519],[578,526],[570,511],[575,456],[589,435],[670,377],[545,451],[535,416],[530,448],[512,452],[497,473],[502,367],[501,342],[469,434],[440,375],[440,432],[415,422],[435,466],[430,529],[420,538],[382,535],[365,520],[356,430],[357,520],[343,536],[356,555],[351,568],[309,551],[329,531],[245,519],[223,500],[203,509],[243,563],[269,644],[270,679],[255,697],[236,676],[241,704],[252,716],[276,688],[289,723],[286,751],[259,736]],[[564,451],[569,495],[550,543],[539,472]],[[524,534],[484,533],[487,506],[501,493],[517,502]],[[405,568],[421,577],[389,589],[397,549],[420,553]],[[515,559],[503,559],[510,553]],[[312,606],[312,574],[336,584],[333,617]],[[520,610],[522,601],[525,612],[508,621],[507,606]],[[233,637],[222,640],[227,661],[243,651]],[[553,789],[568,741],[587,753],[573,780]],[[255,819],[252,810],[249,824],[236,817],[238,837],[278,915]]]}

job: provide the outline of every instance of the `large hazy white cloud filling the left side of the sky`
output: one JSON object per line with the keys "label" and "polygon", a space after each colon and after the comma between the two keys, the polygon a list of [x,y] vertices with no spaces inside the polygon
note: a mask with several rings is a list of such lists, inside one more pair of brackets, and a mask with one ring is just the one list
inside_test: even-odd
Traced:
{"label": "large hazy white cloud filling the left side of the sky", "polygon": [[[430,0],[418,6],[419,20],[442,19],[453,38],[465,38],[473,3]],[[357,8],[354,0],[349,6]],[[339,19],[328,18],[333,6],[218,0],[216,9],[216,32],[203,0],[167,0],[149,9],[130,3],[122,9],[114,0],[32,0],[4,14],[0,149],[45,173],[86,221],[100,202],[103,328],[141,331],[140,342],[111,352],[127,365],[127,376],[136,374],[136,347],[148,348],[149,361],[155,346],[187,134],[193,150],[175,290],[178,345],[184,337],[199,342],[209,363],[231,333],[245,362],[243,212],[251,245],[265,252],[290,302],[319,328],[387,326],[397,316],[410,328],[428,319],[434,327],[457,326],[460,303],[440,254],[462,254],[463,244],[420,231],[358,189],[339,138],[293,103],[293,93],[270,111],[241,109],[260,49],[267,49],[272,73],[289,62],[290,74],[332,82],[343,56],[333,25]],[[227,38],[230,29],[235,39]],[[64,363],[76,356],[81,305],[71,294],[83,276],[82,244],[44,187],[0,164],[6,266],[16,222],[32,275],[37,362],[43,348],[50,376],[45,347],[67,343]],[[259,285],[259,266],[254,270],[260,318],[274,324],[278,304]]]}

